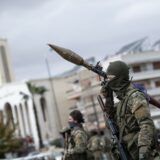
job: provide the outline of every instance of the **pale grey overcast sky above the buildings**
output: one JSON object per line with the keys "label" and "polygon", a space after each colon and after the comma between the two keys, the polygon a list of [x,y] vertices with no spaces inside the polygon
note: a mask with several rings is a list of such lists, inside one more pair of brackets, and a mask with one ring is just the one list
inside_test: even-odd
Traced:
{"label": "pale grey overcast sky above the buildings", "polygon": [[160,39],[160,0],[0,0],[0,38],[8,40],[16,80],[47,77],[73,65],[47,43],[97,61],[148,36]]}

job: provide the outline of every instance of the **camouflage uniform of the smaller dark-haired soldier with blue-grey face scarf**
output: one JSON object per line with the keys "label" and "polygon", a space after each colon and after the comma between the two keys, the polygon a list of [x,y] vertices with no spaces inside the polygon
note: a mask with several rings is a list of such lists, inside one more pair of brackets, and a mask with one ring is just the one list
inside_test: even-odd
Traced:
{"label": "camouflage uniform of the smaller dark-haired soldier with blue-grey face scarf", "polygon": [[69,139],[68,157],[72,160],[87,160],[87,133],[82,126],[76,126],[71,131]]}

